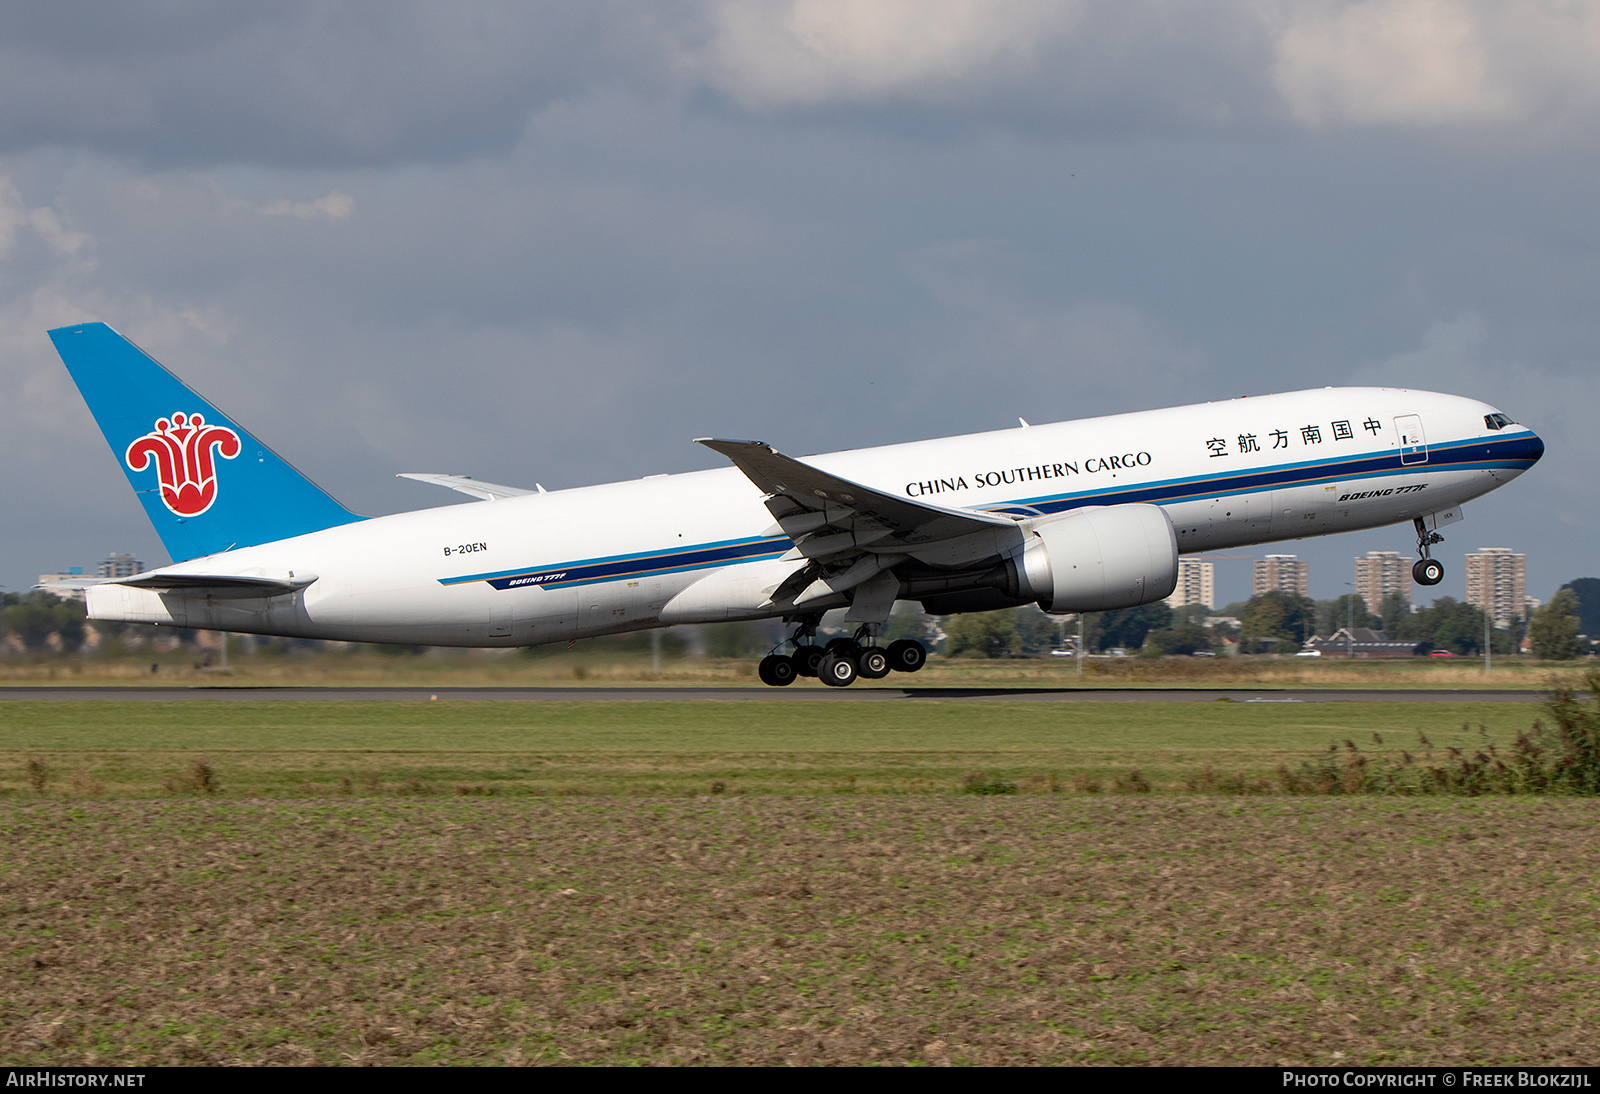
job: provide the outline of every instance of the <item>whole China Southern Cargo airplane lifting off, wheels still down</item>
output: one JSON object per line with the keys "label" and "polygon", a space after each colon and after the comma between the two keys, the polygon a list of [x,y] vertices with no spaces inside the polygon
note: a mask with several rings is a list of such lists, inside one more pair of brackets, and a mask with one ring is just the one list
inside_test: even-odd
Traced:
{"label": "whole China Southern Cargo airplane lifting off, wheels still down", "polygon": [[110,326],[50,337],[178,560],[86,582],[91,619],[429,646],[782,619],[773,686],[922,669],[878,645],[901,600],[1133,608],[1194,552],[1410,521],[1437,585],[1438,528],[1544,454],[1472,398],[1325,387],[805,459],[699,438],[731,465],[574,489],[408,473],[474,501],[363,518]]}

